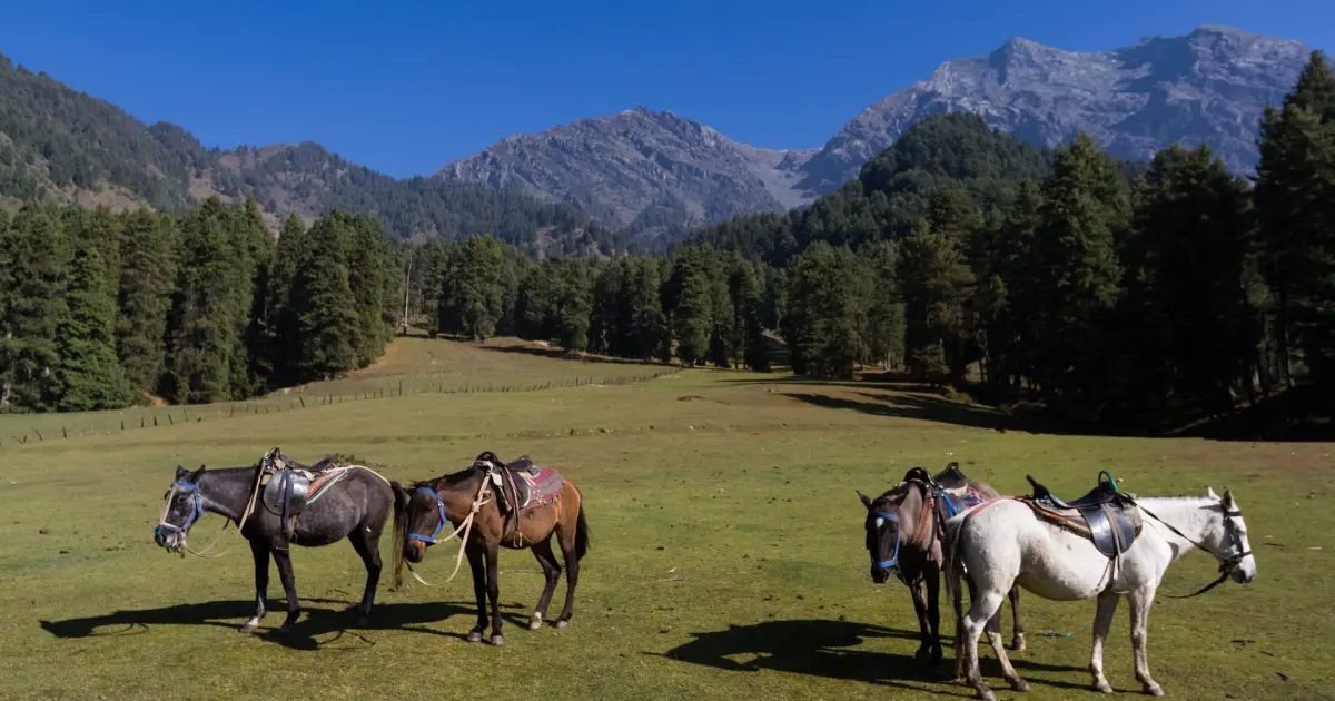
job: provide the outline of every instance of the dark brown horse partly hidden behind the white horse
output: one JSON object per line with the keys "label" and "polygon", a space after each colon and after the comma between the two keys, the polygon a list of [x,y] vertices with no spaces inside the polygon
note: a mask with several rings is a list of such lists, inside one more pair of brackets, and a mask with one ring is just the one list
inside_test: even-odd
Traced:
{"label": "dark brown horse partly hidden behind the white horse", "polygon": [[[941,661],[941,567],[945,563],[944,525],[955,514],[1001,494],[985,482],[968,479],[952,462],[932,477],[922,467],[904,474],[894,489],[869,499],[857,493],[866,506],[866,549],[872,555],[872,581],[885,583],[894,571],[913,594],[922,645],[917,657],[930,654],[932,664]],[[922,585],[926,592],[922,592]],[[1011,610],[1015,614],[1015,637],[1011,646],[1024,650],[1024,624],[1020,622],[1020,589],[1011,588]],[[1001,609],[988,621],[988,637],[1000,645]],[[956,633],[959,634],[959,632]]]}

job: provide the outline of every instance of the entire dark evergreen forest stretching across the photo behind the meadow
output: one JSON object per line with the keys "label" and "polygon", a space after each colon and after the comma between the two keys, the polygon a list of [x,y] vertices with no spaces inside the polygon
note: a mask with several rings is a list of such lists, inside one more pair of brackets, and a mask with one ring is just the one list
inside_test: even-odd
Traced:
{"label": "entire dark evergreen forest stretching across the photo behind the meadow", "polygon": [[[3,227],[5,250],[27,256],[3,266],[5,290],[28,302],[5,306],[0,331],[31,339],[5,340],[5,401],[88,406],[60,403],[59,363],[101,358],[64,362],[115,374],[93,322],[107,308],[125,382],[179,402],[359,367],[406,322],[686,365],[769,370],[786,357],[812,377],[878,366],[1105,427],[1226,415],[1295,386],[1328,397],[1323,55],[1266,111],[1259,144],[1247,179],[1204,146],[1133,164],[1085,135],[1040,150],[939,115],[805,210],[698,230],[653,256],[539,256],[494,236],[391,250],[375,220],[342,212],[310,231],[290,220],[271,248],[252,202],[180,218],[29,206]],[[117,227],[140,234],[109,235],[117,251],[96,243]]]}

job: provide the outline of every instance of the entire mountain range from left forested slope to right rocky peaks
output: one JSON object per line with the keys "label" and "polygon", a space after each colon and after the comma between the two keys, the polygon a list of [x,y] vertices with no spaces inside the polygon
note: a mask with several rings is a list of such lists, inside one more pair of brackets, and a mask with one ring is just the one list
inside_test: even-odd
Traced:
{"label": "entire mountain range from left forested slope to right rocky peaks", "polygon": [[[857,176],[914,122],[975,112],[1040,146],[1088,132],[1112,155],[1148,160],[1172,143],[1210,144],[1235,172],[1256,163],[1258,120],[1279,104],[1308,48],[1206,25],[1104,52],[1011,39],[941,64],[857,115],[818,150],[734,142],[645,108],[503,139],[431,178],[395,180],[311,143],[206,150],[174,124],[119,108],[0,56],[0,199],[43,188],[85,204],[182,207],[254,195],[276,220],[330,207],[380,216],[399,238],[494,231],[606,248],[607,228],[645,243],[736,215],[801,207]],[[590,226],[593,218],[603,224]],[[597,239],[597,240],[595,240]]]}

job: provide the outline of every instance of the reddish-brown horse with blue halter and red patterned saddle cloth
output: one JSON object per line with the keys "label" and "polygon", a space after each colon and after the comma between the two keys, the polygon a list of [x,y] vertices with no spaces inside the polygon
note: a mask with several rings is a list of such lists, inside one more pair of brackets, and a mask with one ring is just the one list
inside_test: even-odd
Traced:
{"label": "reddish-brown horse with blue halter and red patterned saddle cloth", "polygon": [[[533,475],[533,481],[519,474],[523,471]],[[469,633],[469,642],[482,641],[482,633],[487,628],[487,597],[491,597],[491,644],[505,642],[505,636],[501,634],[497,582],[501,546],[511,550],[529,547],[542,565],[547,581],[529,620],[529,629],[542,628],[547,605],[561,577],[561,565],[551,553],[553,533],[557,534],[561,555],[566,563],[566,608],[557,617],[555,626],[570,625],[575,585],[579,581],[579,561],[589,550],[589,523],[585,521],[583,499],[579,487],[573,482],[555,470],[533,467],[527,458],[507,466],[493,453],[486,451],[466,470],[417,482],[411,493],[396,490],[395,502],[395,509],[399,511],[395,518],[395,535],[402,541],[402,545],[394,549],[395,586],[403,583],[405,558],[407,562],[422,562],[427,547],[453,538],[454,533],[463,533],[459,557],[466,554],[469,558],[469,566],[473,569],[473,593],[478,600],[478,625]],[[454,525],[454,533],[438,538],[446,522]]]}

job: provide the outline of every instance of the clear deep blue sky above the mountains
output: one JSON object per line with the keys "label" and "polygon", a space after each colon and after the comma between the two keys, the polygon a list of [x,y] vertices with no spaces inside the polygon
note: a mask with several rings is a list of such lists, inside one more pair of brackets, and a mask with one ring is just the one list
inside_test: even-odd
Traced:
{"label": "clear deep blue sky above the mountains", "polygon": [[0,5],[0,52],[206,146],[314,140],[394,176],[645,105],[769,148],[822,144],[1009,36],[1097,51],[1200,24],[1335,48],[1335,3],[437,0]]}

